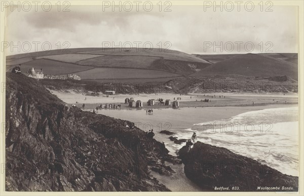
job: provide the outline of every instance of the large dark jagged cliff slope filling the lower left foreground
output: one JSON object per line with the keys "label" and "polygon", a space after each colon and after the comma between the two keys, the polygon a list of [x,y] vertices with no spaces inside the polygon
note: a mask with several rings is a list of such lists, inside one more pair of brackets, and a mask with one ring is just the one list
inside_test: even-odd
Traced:
{"label": "large dark jagged cliff slope filling the lower left foreground", "polygon": [[6,190],[169,191],[149,172],[178,160],[132,123],[69,108],[24,75],[6,88]]}

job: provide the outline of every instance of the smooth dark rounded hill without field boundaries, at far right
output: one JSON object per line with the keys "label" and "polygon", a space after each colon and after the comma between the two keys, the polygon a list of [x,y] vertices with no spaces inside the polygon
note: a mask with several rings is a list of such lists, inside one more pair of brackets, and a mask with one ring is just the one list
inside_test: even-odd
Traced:
{"label": "smooth dark rounded hill without field boundaries, at far right", "polygon": [[192,74],[195,77],[215,74],[239,74],[255,77],[287,75],[297,80],[297,65],[260,54],[243,54],[214,63]]}

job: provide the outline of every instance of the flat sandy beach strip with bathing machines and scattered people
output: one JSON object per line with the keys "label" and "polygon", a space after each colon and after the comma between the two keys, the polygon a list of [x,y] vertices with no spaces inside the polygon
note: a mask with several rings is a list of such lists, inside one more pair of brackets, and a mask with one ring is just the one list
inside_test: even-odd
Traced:
{"label": "flat sandy beach strip with bathing machines and scattered people", "polygon": [[[140,100],[143,103],[141,109],[163,109],[172,108],[172,101],[177,100],[179,97],[179,108],[182,107],[214,107],[214,106],[261,106],[269,104],[297,104],[298,95],[295,93],[265,93],[265,94],[253,94],[253,93],[212,93],[212,94],[171,94],[171,93],[158,93],[158,94],[137,94],[137,95],[105,95],[100,96],[88,96],[81,93],[70,92],[60,92],[51,91],[59,99],[63,100],[65,103],[75,104],[78,107],[82,107],[85,104],[85,109],[94,109],[100,104],[121,104],[121,109],[137,109],[130,108],[129,104],[125,104],[126,98],[133,98],[135,101]],[[219,97],[220,96],[220,97]],[[155,101],[155,105],[148,106],[147,101],[149,99],[162,98],[164,101],[166,99],[171,100],[171,105],[159,105],[158,101]],[[209,99],[209,102],[202,102],[201,100]],[[78,102],[78,103],[76,103]],[[276,107],[276,106],[274,106]]]}

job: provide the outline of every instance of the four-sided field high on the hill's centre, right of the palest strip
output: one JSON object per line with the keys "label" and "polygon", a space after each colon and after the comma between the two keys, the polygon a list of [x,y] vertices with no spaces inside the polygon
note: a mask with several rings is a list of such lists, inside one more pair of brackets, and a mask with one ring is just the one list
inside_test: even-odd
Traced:
{"label": "four-sided field high on the hill's centre, right of the palest strip", "polygon": [[82,60],[78,64],[98,67],[148,68],[157,59],[159,58],[146,56],[102,56]]}

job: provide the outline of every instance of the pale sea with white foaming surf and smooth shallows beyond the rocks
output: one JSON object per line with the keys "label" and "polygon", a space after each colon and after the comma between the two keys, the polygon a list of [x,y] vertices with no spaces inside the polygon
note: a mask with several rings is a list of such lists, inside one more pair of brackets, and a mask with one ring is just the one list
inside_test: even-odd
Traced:
{"label": "pale sea with white foaming surf and smooth shallows beyond the rocks", "polygon": [[168,108],[155,109],[151,115],[137,109],[98,113],[134,122],[145,131],[154,129],[155,139],[164,141],[174,155],[184,143],[175,144],[158,131],[167,129],[179,139],[189,139],[196,132],[198,141],[225,147],[284,174],[299,175],[297,106]]}

